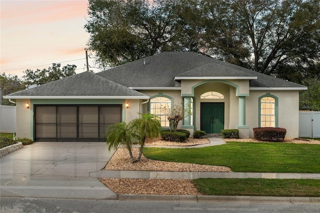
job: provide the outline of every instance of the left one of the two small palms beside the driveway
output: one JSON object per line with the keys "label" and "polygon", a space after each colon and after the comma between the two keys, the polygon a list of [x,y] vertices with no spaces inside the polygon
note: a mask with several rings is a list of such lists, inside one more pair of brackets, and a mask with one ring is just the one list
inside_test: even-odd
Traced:
{"label": "left one of the two small palms beside the driveway", "polygon": [[110,151],[112,148],[117,149],[119,146],[124,146],[130,155],[130,159],[132,162],[135,162],[131,146],[136,143],[137,136],[134,135],[134,131],[130,124],[126,124],[125,122],[112,124],[107,128],[106,133],[106,144],[108,144],[108,150]]}

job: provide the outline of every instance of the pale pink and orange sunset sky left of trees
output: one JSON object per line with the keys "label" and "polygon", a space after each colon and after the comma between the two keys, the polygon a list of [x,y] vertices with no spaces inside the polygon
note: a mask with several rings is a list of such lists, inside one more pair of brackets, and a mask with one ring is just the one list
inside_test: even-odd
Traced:
{"label": "pale pink and orange sunset sky left of trees", "polygon": [[0,0],[0,73],[21,77],[52,63],[85,71],[87,6],[87,0]]}

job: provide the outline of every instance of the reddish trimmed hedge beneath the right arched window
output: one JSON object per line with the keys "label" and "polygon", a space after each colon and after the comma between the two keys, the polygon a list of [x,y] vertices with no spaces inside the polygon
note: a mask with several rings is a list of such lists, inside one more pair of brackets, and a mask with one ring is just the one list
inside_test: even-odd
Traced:
{"label": "reddish trimmed hedge beneath the right arched window", "polygon": [[279,127],[253,128],[254,139],[259,141],[281,142],[284,140],[286,129]]}

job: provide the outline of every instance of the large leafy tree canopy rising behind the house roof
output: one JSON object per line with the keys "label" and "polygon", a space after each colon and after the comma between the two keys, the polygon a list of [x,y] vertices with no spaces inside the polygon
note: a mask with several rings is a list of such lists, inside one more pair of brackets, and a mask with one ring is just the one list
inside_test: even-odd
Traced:
{"label": "large leafy tree canopy rising behind the house roof", "polygon": [[193,51],[297,83],[320,75],[320,1],[89,0],[88,14],[102,66]]}

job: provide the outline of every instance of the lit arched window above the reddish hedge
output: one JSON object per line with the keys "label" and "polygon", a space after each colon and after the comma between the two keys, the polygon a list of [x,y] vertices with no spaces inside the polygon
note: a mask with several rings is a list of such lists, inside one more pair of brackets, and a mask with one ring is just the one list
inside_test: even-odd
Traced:
{"label": "lit arched window above the reddish hedge", "polygon": [[277,127],[277,98],[261,96],[259,98],[259,126]]}

